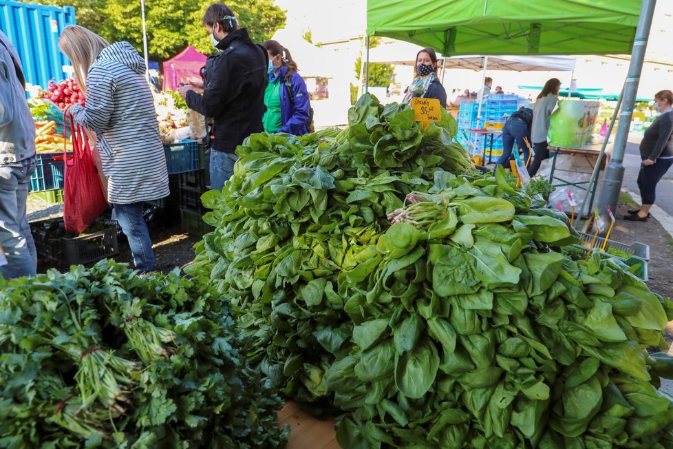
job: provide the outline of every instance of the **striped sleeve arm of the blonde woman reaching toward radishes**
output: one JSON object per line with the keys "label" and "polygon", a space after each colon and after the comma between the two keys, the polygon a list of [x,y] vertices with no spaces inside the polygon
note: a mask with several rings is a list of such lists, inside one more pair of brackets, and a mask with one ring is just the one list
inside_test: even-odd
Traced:
{"label": "striped sleeve arm of the blonde woman reaching toward radishes", "polygon": [[110,118],[114,112],[114,93],[116,81],[105,67],[92,66],[87,79],[86,106],[70,107],[72,118],[93,132],[104,132],[109,129]]}

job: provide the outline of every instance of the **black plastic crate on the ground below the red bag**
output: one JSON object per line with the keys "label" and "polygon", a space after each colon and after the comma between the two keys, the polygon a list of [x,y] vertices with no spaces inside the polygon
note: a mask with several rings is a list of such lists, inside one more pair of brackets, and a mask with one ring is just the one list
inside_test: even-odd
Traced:
{"label": "black plastic crate on the ground below the red bag", "polygon": [[[40,220],[32,225],[38,227],[45,222],[58,221],[63,221],[63,218]],[[113,223],[105,222],[107,229],[75,238],[61,237],[45,240],[33,231],[35,249],[39,255],[65,265],[98,262],[98,260],[119,253],[116,222]]]}

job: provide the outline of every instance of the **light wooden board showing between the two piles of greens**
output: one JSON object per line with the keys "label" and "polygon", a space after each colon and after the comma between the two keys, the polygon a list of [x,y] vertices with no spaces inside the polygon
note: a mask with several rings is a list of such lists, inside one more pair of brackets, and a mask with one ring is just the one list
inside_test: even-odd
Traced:
{"label": "light wooden board showing between the two piles of greens", "polygon": [[287,401],[278,412],[278,426],[290,424],[288,449],[339,449],[334,433],[334,418],[317,419]]}

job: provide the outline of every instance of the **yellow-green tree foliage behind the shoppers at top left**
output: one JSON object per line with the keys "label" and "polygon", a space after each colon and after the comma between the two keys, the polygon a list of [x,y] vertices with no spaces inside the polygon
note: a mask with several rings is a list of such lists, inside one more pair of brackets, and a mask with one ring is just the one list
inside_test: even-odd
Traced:
{"label": "yellow-green tree foliage behind the shoppers at top left", "polygon": [[[25,0],[54,6],[74,6],[78,25],[100,34],[109,42],[129,41],[142,52],[142,17],[138,0]],[[202,25],[211,2],[187,0],[147,0],[147,46],[149,58],[163,61],[193,45],[204,54],[213,54],[210,36]],[[285,12],[273,0],[226,2],[248,29],[255,42],[264,42],[285,25]]]}

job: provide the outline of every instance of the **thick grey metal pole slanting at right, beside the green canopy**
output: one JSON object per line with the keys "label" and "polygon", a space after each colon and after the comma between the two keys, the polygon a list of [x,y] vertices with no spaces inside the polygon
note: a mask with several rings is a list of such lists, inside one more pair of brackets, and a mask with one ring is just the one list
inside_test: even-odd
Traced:
{"label": "thick grey metal pole slanting at right, beside the green canopy", "polygon": [[615,134],[615,147],[612,149],[612,160],[608,163],[606,176],[603,179],[603,188],[599,196],[599,211],[604,211],[606,206],[610,206],[613,211],[617,210],[617,200],[621,191],[621,182],[624,178],[624,152],[626,151],[626,141],[631,125],[631,116],[633,114],[633,105],[636,101],[638,83],[640,74],[643,70],[643,59],[645,59],[645,50],[648,46],[648,36],[652,26],[652,14],[656,0],[643,0],[641,6],[640,19],[636,28],[636,36],[633,41],[633,51],[631,53],[631,63],[629,64],[628,75],[626,76],[626,85],[624,86],[624,99],[619,114],[619,125],[617,134]]}

